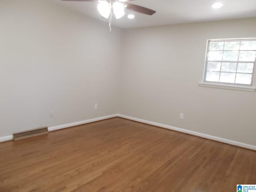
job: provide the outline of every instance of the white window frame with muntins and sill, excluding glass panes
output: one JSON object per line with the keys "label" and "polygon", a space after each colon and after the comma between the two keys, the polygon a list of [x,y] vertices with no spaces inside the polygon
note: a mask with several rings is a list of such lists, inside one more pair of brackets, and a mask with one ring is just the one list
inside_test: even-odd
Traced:
{"label": "white window frame with muntins and sill, excluding glass panes", "polygon": [[[236,39],[208,39],[207,40],[207,46],[206,46],[206,53],[205,53],[205,62],[204,62],[204,72],[203,72],[203,79],[202,82],[199,83],[200,86],[207,86],[207,87],[214,87],[214,88],[227,88],[227,89],[236,89],[236,90],[247,90],[248,91],[254,91],[256,87],[253,87],[254,83],[254,75],[255,75],[255,68],[256,68],[256,59],[254,62],[243,62],[243,63],[253,63],[253,70],[252,70],[252,80],[251,84],[238,84],[238,83],[225,83],[225,82],[212,82],[212,81],[206,81],[206,73],[207,73],[207,64],[208,64],[208,53],[209,53],[209,46],[210,42],[230,42],[230,41],[255,41],[256,38],[236,38]],[[240,43],[241,45],[241,43]],[[224,51],[224,47],[223,47]],[[240,52],[240,48],[238,50]],[[256,51],[256,50],[242,50],[242,51]],[[239,54],[238,54],[238,61],[239,61]],[[225,61],[230,63],[238,63],[238,61]],[[222,64],[222,62],[221,62]],[[238,68],[238,64],[236,66],[236,70]],[[221,70],[221,66],[220,66]],[[234,72],[238,74],[238,72]],[[242,73],[246,74],[246,73]],[[248,73],[249,74],[249,73]],[[222,87],[218,87],[222,86]]]}

